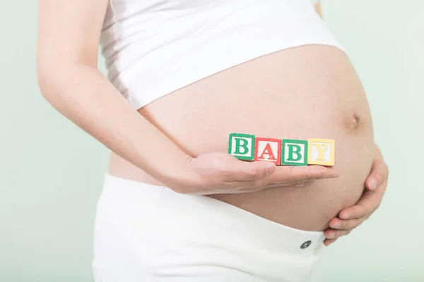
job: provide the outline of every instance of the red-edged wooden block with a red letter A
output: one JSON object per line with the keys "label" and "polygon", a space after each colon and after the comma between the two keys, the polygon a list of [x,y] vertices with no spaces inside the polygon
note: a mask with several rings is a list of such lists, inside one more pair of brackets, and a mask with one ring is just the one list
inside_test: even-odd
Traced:
{"label": "red-edged wooden block with a red letter A", "polygon": [[278,166],[281,158],[281,139],[256,137],[254,152],[255,161],[271,161]]}

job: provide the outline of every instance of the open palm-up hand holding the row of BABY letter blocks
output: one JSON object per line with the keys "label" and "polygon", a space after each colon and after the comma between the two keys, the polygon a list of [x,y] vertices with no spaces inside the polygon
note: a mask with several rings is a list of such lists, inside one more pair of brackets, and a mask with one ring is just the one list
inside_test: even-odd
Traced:
{"label": "open palm-up hand holding the row of BABY letter blocks", "polygon": [[189,159],[188,163],[188,175],[170,187],[183,194],[240,194],[338,176],[334,168],[240,161],[223,152],[201,154]]}

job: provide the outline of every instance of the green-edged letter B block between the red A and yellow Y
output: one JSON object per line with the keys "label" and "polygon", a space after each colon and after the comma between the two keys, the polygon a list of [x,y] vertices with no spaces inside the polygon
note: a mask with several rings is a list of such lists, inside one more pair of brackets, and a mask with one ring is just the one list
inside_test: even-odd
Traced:
{"label": "green-edged letter B block between the red A and yellow Y", "polygon": [[307,166],[308,146],[306,140],[283,139],[281,164],[285,166]]}

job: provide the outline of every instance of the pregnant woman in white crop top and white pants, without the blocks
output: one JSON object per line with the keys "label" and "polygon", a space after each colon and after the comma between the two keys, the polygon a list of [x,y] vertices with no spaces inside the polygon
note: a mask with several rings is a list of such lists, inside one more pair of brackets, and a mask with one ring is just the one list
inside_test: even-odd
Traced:
{"label": "pregnant woman in white crop top and white pants, without the blocks", "polygon": [[[379,206],[367,98],[319,4],[40,0],[39,18],[43,96],[112,151],[95,281],[320,281],[323,246]],[[230,133],[334,139],[334,168],[240,161]]]}

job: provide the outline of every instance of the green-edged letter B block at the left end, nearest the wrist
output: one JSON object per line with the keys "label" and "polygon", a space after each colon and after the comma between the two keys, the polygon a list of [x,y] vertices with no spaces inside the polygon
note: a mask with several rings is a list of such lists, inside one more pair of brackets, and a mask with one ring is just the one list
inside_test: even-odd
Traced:
{"label": "green-edged letter B block at the left end, nearest the wrist", "polygon": [[231,133],[228,140],[228,154],[245,161],[254,160],[254,135]]}

